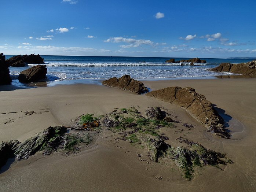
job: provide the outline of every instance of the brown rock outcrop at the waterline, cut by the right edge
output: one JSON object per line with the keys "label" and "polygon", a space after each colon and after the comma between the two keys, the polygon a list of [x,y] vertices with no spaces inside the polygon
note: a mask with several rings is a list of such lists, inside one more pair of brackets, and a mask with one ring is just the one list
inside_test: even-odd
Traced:
{"label": "brown rock outcrop at the waterline, cut by the right edge", "polygon": [[256,60],[239,64],[221,63],[219,66],[210,69],[210,71],[230,72],[250,77],[256,77]]}

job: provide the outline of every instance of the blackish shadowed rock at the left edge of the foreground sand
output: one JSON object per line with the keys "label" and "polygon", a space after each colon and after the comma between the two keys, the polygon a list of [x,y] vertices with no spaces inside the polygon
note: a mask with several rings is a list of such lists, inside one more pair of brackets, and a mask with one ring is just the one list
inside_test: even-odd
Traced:
{"label": "blackish shadowed rock at the left edge of the foreground sand", "polygon": [[19,143],[17,140],[11,140],[0,144],[0,168],[6,164],[9,158],[15,157],[14,152]]}

